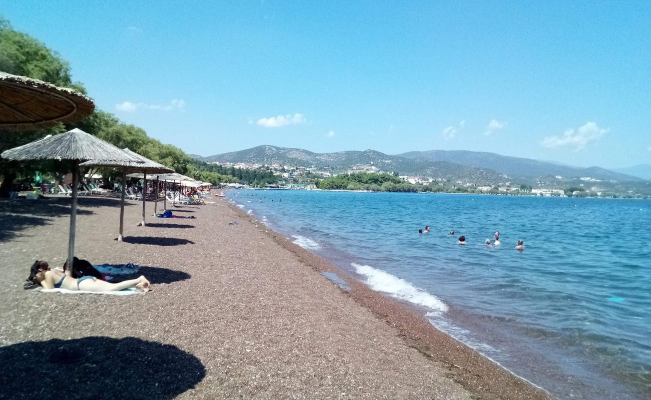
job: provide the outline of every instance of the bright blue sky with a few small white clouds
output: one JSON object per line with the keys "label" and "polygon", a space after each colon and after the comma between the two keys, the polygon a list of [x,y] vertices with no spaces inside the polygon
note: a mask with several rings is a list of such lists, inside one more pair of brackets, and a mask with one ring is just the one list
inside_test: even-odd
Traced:
{"label": "bright blue sky with a few small white clouds", "polygon": [[189,153],[651,163],[649,1],[204,3],[1,1],[0,15],[59,51],[100,109]]}

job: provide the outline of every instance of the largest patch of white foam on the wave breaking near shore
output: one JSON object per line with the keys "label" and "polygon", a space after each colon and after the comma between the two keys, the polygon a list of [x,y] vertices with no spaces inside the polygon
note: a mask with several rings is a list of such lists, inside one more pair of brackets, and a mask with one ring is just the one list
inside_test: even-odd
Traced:
{"label": "largest patch of white foam on the wave breaking near shore", "polygon": [[387,293],[396,299],[406,300],[439,312],[446,312],[448,309],[447,304],[435,295],[413,286],[413,284],[398,278],[398,276],[373,268],[370,265],[359,265],[357,263],[351,263],[350,265],[355,267],[358,274],[366,276],[364,283],[374,291]]}

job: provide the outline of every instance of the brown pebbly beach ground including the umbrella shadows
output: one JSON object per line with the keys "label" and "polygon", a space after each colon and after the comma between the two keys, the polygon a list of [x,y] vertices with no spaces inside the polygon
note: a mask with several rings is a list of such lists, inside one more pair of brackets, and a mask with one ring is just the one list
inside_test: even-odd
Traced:
{"label": "brown pebbly beach ground including the umbrella shadows", "polygon": [[[138,227],[79,198],[76,255],[136,263],[146,295],[24,290],[64,261],[69,198],[0,202],[0,399],[546,399],[393,300],[320,272],[327,261],[215,204]],[[147,205],[148,215],[153,204]],[[228,222],[238,224],[229,225]]]}

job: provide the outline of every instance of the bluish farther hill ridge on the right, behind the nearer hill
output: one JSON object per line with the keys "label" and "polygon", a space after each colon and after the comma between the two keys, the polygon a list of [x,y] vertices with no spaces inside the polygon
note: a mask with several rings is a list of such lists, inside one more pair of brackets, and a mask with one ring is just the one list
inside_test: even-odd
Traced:
{"label": "bluish farther hill ridge on the right, behind the nearer hill", "polygon": [[521,157],[510,157],[486,152],[469,152],[466,150],[429,150],[427,152],[408,152],[402,157],[428,161],[448,161],[475,168],[492,168],[512,178],[540,178],[546,176],[563,176],[566,178],[591,177],[602,180],[639,181],[637,176],[630,176],[600,167],[571,167],[546,161]]}

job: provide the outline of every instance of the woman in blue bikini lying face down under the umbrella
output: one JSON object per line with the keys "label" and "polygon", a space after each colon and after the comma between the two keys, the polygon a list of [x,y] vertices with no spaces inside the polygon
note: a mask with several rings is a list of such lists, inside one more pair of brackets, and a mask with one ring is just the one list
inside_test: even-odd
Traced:
{"label": "woman in blue bikini lying face down under the umbrella", "polygon": [[[73,270],[77,267],[77,263],[83,260],[75,259],[72,263]],[[36,261],[32,265],[29,278],[30,282],[35,285],[40,284],[45,289],[68,289],[68,290],[83,290],[83,291],[120,291],[122,289],[130,289],[136,287],[142,291],[149,291],[149,281],[145,276],[140,276],[136,279],[125,280],[117,284],[111,284],[104,280],[99,280],[94,276],[82,276],[79,279],[72,277],[70,269],[66,269],[65,273],[49,269],[46,261]]]}

